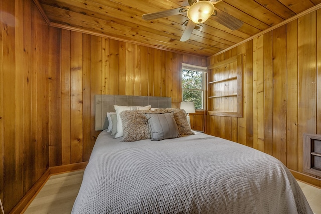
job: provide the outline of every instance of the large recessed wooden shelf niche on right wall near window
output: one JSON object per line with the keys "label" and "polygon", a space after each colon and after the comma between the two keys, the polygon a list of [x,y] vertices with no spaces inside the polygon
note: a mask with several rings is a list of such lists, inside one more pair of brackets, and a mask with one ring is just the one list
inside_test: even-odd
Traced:
{"label": "large recessed wooden shelf niche on right wall near window", "polygon": [[208,114],[242,117],[242,55],[208,67]]}

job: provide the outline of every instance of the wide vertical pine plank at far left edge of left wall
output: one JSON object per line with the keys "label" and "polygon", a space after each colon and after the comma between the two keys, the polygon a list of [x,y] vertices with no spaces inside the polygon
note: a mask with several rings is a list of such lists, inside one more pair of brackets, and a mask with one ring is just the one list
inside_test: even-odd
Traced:
{"label": "wide vertical pine plank at far left edge of left wall", "polygon": [[[3,203],[6,204],[5,211],[9,211],[10,207],[13,207],[15,203],[19,200],[19,194],[15,193],[16,187],[16,130],[15,130],[15,120],[16,120],[16,54],[15,54],[15,21],[13,20],[13,15],[15,14],[15,3],[10,1],[2,2],[2,8],[7,13],[2,13],[3,20],[3,118],[4,118],[4,143],[3,150],[6,154],[6,163],[4,164],[4,175],[6,178],[4,180],[4,191],[3,191]],[[11,15],[11,16],[10,16]],[[7,21],[7,22],[6,22]],[[18,172],[19,173],[19,172]]]}

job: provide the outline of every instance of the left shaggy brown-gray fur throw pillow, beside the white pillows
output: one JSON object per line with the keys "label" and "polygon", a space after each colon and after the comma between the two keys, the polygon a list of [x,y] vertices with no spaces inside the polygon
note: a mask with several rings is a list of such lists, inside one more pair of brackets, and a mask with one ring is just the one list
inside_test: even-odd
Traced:
{"label": "left shaggy brown-gray fur throw pillow, beside the white pillows", "polygon": [[147,110],[122,111],[120,113],[124,136],[121,141],[132,142],[150,139]]}

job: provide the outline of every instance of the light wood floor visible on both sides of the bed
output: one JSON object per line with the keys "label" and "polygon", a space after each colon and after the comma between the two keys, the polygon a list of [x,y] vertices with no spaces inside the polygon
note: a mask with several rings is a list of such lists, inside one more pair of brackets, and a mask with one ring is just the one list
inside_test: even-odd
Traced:
{"label": "light wood floor visible on both sides of the bed", "polygon": [[[84,170],[52,175],[25,213],[70,213]],[[321,214],[321,189],[298,181],[315,214]]]}

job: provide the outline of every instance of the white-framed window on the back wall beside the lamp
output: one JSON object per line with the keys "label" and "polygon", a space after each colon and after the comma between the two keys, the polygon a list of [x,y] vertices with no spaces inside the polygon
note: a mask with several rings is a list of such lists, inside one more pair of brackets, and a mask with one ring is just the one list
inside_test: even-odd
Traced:
{"label": "white-framed window on the back wall beside the lamp", "polygon": [[182,64],[182,102],[204,109],[206,67]]}

